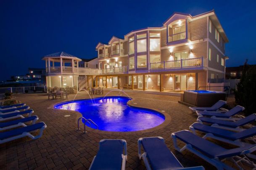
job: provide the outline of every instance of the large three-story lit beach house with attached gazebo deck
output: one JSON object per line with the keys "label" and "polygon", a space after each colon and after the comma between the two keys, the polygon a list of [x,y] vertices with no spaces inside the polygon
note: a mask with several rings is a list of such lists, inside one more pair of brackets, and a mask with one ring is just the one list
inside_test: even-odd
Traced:
{"label": "large three-story lit beach house with attached gazebo deck", "polygon": [[79,67],[82,59],[65,52],[43,57],[47,85],[195,90],[208,82],[224,82],[227,42],[214,10],[195,16],[174,13],[162,27],[131,31],[122,39],[113,36],[108,44],[99,42],[98,68]]}

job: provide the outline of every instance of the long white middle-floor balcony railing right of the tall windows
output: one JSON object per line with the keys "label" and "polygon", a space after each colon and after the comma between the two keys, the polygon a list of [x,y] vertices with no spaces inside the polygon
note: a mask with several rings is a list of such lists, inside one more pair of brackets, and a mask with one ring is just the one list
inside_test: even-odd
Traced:
{"label": "long white middle-floor balcony railing right of the tall windows", "polygon": [[203,57],[150,63],[150,70],[165,70],[187,67],[203,67]]}

